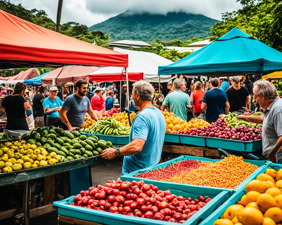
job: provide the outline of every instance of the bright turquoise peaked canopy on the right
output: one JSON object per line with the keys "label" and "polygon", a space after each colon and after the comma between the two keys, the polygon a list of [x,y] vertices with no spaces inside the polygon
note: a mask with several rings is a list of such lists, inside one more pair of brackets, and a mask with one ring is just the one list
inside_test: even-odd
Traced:
{"label": "bright turquoise peaked canopy on the right", "polygon": [[233,28],[187,57],[159,67],[158,73],[228,76],[281,70],[281,52]]}

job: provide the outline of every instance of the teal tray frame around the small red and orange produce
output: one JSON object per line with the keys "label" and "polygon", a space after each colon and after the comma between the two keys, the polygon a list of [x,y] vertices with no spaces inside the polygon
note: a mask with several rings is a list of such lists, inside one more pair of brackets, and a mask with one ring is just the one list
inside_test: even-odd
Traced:
{"label": "teal tray frame around the small red and orange produce", "polygon": [[128,173],[126,175],[122,175],[122,176],[120,176],[120,178],[121,178],[122,181],[128,180],[130,182],[132,180],[136,180],[136,181],[138,181],[138,180],[145,180],[146,183],[154,184],[156,186],[160,186],[162,184],[164,184],[165,186],[170,185],[170,187],[174,188],[174,189],[181,189],[182,186],[193,186],[195,188],[204,187],[204,188],[212,188],[212,189],[217,189],[217,190],[228,190],[228,191],[231,192],[230,193],[230,196],[231,196],[233,191],[237,192],[237,191],[241,190],[241,188],[244,187],[247,183],[249,183],[249,181],[252,180],[253,177],[257,176],[261,172],[261,169],[267,167],[266,165],[271,163],[270,161],[244,160],[245,162],[252,163],[254,165],[259,166],[259,168],[256,171],[254,171],[254,173],[252,173],[246,180],[244,180],[235,189],[228,189],[228,188],[221,188],[221,187],[199,186],[199,185],[188,185],[188,184],[182,184],[182,183],[174,183],[174,182],[167,182],[167,181],[151,180],[151,179],[143,179],[143,178],[134,177],[135,174],[144,173],[144,172],[150,171],[152,169],[157,169],[157,168],[160,168],[160,167],[164,167],[164,166],[167,166],[169,164],[175,163],[177,161],[185,160],[185,159],[186,160],[188,160],[188,159],[195,159],[195,160],[199,160],[199,161],[209,161],[209,162],[216,162],[216,161],[220,160],[220,159],[210,159],[210,158],[196,157],[196,156],[179,156],[177,158],[174,158],[172,160],[166,161],[164,163],[160,163],[160,164],[158,164],[156,166],[147,167],[147,168],[142,169],[142,170],[137,170],[137,171],[134,171],[132,173]]}

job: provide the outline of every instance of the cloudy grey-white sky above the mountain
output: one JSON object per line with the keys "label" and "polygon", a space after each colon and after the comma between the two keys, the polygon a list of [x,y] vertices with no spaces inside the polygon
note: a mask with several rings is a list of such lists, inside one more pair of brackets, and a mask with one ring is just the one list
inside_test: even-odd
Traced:
{"label": "cloudy grey-white sky above the mountain", "polygon": [[[31,10],[44,10],[56,22],[57,0],[10,0]],[[203,14],[220,20],[221,13],[241,8],[236,0],[63,0],[61,23],[77,22],[87,26],[103,22],[110,17],[132,9],[137,13],[166,14],[171,11]]]}

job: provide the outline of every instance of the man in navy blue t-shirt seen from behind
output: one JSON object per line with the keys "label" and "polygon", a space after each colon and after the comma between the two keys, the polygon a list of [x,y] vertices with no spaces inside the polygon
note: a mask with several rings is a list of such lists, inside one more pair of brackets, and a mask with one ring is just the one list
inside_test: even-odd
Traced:
{"label": "man in navy blue t-shirt seen from behind", "polygon": [[219,89],[219,79],[212,78],[209,81],[210,90],[204,95],[201,109],[206,110],[205,120],[215,122],[220,114],[227,114],[229,102],[225,91]]}

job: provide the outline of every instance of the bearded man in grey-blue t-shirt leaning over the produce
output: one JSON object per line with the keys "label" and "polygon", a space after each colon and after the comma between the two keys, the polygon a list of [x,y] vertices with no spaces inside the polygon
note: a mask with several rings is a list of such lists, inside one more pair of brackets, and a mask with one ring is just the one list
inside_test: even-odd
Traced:
{"label": "bearded man in grey-blue t-shirt leaning over the produce", "polygon": [[89,99],[86,97],[88,88],[87,81],[76,81],[75,87],[76,92],[66,98],[60,110],[61,120],[68,127],[70,132],[81,127],[86,112],[88,112],[93,120],[98,120],[97,115],[91,108]]}

